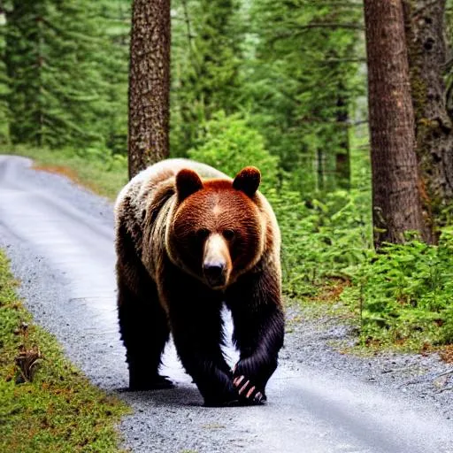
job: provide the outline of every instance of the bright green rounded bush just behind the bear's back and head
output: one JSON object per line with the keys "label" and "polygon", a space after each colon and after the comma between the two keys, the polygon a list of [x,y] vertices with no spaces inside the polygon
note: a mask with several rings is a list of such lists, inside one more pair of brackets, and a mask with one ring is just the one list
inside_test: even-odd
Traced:
{"label": "bright green rounded bush just behind the bear's back and head", "polygon": [[212,165],[234,177],[244,166],[255,165],[262,173],[262,189],[275,187],[278,182],[278,158],[265,150],[261,134],[248,126],[240,115],[226,116],[217,112],[201,128],[197,147],[188,150],[188,157]]}

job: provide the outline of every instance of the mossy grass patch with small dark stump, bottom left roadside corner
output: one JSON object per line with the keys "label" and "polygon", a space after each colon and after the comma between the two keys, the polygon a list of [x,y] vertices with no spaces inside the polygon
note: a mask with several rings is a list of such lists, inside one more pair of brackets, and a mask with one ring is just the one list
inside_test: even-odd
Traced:
{"label": "mossy grass patch with small dark stump, bottom left roadside corner", "polygon": [[92,386],[33,325],[16,287],[0,250],[0,451],[118,452],[126,404]]}

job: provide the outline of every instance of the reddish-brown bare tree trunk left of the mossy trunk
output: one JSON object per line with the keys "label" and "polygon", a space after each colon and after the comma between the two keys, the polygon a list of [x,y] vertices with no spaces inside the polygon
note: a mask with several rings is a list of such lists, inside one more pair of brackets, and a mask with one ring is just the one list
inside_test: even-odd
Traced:
{"label": "reddish-brown bare tree trunk left of the mossy trunk", "polygon": [[402,0],[365,0],[374,243],[425,236]]}

